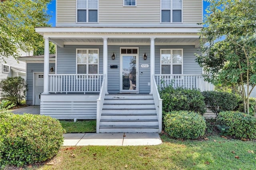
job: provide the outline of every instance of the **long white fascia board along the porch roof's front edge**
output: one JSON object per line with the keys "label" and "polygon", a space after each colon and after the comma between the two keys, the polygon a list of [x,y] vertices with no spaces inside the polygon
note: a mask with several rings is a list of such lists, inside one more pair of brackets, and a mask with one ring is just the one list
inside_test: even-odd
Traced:
{"label": "long white fascia board along the porch roof's front edge", "polygon": [[[36,27],[45,33],[198,33],[201,27]],[[46,36],[45,36],[46,37]]]}

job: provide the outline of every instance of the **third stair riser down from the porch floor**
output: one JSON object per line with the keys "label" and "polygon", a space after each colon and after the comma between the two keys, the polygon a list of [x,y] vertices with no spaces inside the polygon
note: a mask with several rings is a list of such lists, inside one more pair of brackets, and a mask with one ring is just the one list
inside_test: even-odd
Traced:
{"label": "third stair riser down from the porch floor", "polygon": [[103,109],[156,109],[154,104],[104,104]]}

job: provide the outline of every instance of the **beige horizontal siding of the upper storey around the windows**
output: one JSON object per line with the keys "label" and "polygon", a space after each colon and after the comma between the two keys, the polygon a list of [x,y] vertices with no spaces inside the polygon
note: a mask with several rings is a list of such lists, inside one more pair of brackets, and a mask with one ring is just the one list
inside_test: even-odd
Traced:
{"label": "beige horizontal siding of the upper storey around the windows", "polygon": [[[99,0],[98,23],[145,23],[164,26],[168,23],[160,24],[160,2],[137,0],[136,7],[124,7],[123,0]],[[85,25],[76,23],[76,0],[58,0],[57,8],[56,26]],[[185,24],[202,22],[202,0],[183,0],[182,20]]]}

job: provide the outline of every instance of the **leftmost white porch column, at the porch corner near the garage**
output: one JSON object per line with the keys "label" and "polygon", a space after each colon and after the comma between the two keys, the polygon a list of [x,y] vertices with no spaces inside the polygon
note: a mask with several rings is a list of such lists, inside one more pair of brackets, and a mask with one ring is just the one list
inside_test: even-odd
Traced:
{"label": "leftmost white porch column, at the porch corner near the garage", "polygon": [[49,93],[49,38],[44,37],[44,92]]}

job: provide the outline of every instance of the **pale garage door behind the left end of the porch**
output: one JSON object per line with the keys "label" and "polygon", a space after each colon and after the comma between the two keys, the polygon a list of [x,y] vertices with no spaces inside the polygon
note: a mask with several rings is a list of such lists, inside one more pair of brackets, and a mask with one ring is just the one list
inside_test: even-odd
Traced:
{"label": "pale garage door behind the left end of the porch", "polygon": [[34,75],[34,89],[35,89],[35,105],[40,105],[39,94],[44,92],[44,73],[35,73]]}

